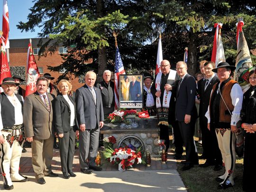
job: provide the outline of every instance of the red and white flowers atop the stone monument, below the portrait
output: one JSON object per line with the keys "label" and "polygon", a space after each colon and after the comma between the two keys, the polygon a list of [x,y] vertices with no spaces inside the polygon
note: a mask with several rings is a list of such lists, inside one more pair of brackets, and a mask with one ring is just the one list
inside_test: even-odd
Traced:
{"label": "red and white flowers atop the stone monument, below the portrait", "polygon": [[107,117],[107,119],[110,121],[110,123],[120,123],[124,122],[126,124],[129,124],[129,121],[126,121],[127,115],[137,114],[137,110],[130,109],[130,110],[115,110],[113,113],[110,113],[110,115]]}

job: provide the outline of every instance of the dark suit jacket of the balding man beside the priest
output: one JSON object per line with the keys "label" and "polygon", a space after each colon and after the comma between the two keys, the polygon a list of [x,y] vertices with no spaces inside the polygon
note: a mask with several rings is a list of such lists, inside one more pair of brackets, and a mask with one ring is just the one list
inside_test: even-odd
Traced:
{"label": "dark suit jacket of the balding man beside the priest", "polygon": [[176,100],[176,120],[184,121],[185,115],[191,115],[196,119],[197,110],[195,107],[195,93],[196,93],[196,81],[194,77],[187,74],[185,75],[180,88],[177,88],[177,100]]}

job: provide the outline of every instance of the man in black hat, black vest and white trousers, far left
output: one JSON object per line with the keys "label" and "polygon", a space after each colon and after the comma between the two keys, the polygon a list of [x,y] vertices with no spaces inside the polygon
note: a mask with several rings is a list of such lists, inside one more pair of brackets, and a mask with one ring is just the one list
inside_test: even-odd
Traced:
{"label": "man in black hat, black vest and white trousers, far left", "polygon": [[22,114],[23,98],[14,94],[18,84],[13,78],[7,77],[0,85],[4,91],[0,94],[0,167],[6,190],[13,189],[12,182],[27,181],[27,177],[18,173],[25,139]]}

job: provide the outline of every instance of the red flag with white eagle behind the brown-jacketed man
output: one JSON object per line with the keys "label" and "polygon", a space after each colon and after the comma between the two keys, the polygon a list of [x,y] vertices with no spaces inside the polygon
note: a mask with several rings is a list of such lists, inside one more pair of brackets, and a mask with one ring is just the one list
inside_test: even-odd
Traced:
{"label": "red flag with white eagle behind the brown-jacketed man", "polygon": [[33,54],[32,44],[30,42],[27,50],[27,87],[25,96],[37,91],[36,83],[39,77],[40,73]]}

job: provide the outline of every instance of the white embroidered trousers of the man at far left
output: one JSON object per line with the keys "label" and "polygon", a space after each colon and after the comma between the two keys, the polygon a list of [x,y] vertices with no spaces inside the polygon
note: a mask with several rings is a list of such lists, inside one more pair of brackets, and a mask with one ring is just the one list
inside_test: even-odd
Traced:
{"label": "white embroidered trousers of the man at far left", "polygon": [[[12,181],[20,181],[24,179],[24,177],[18,173],[19,160],[24,143],[24,133],[21,129],[12,131],[2,130],[1,133],[5,142],[0,144],[0,167],[4,184],[10,186],[12,185]],[[11,144],[9,142],[11,142]]]}

